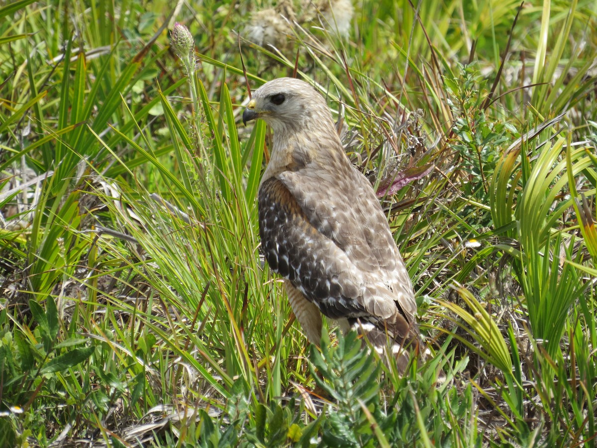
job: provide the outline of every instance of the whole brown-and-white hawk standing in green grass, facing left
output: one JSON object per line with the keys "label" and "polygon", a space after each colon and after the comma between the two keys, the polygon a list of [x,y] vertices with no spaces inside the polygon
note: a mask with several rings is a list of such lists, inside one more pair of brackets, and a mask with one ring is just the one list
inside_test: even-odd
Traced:
{"label": "whole brown-and-white hawk standing in green grass, facing left", "polygon": [[257,89],[242,121],[264,119],[272,154],[259,186],[265,259],[284,277],[294,315],[310,342],[321,314],[344,331],[389,346],[404,370],[405,344],[418,345],[413,285],[368,180],[344,153],[324,98],[279,78]]}

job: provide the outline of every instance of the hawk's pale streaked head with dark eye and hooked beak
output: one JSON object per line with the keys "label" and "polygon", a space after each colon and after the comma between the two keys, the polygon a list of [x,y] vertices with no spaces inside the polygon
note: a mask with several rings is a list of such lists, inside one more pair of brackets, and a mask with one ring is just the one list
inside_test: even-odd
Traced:
{"label": "hawk's pale streaked head with dark eye and hooked beak", "polygon": [[242,114],[242,122],[262,118],[274,133],[306,130],[317,123],[319,128],[334,122],[324,98],[300,79],[278,78],[266,82],[253,93]]}

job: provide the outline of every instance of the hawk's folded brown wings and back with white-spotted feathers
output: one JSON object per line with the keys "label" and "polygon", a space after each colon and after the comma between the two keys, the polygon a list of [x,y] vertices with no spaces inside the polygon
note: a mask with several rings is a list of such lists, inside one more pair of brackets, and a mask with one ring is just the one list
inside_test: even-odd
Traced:
{"label": "hawk's folded brown wings and back with white-spotted feathers", "polygon": [[264,180],[259,220],[267,262],[328,317],[408,337],[416,312],[408,273],[373,189],[347,168],[330,174],[309,167]]}

